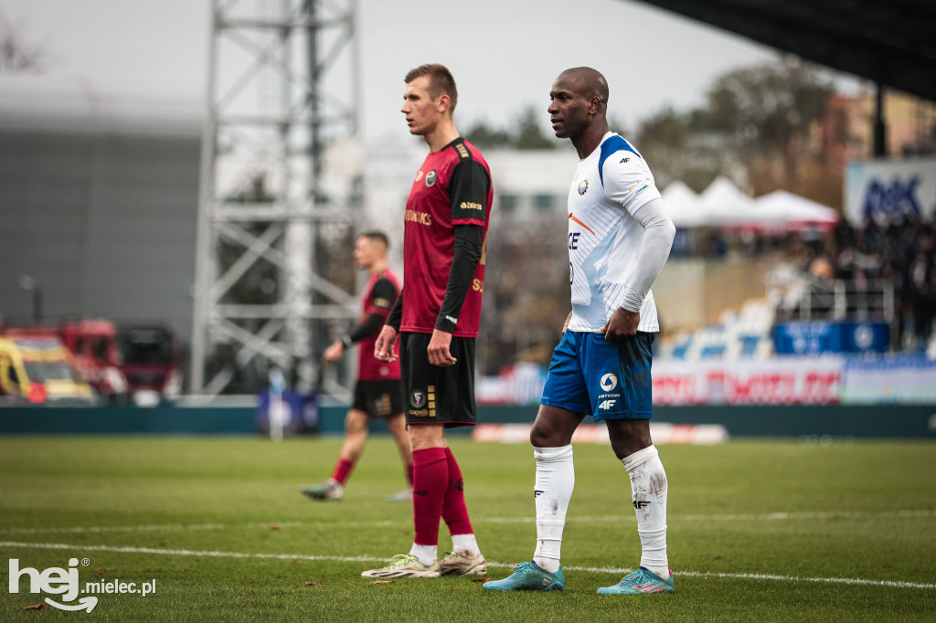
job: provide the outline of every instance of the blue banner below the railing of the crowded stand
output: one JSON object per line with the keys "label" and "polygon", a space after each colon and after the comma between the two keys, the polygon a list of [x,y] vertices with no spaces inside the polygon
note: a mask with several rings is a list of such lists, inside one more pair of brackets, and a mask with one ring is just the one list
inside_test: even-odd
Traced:
{"label": "blue banner below the railing of the crowded stand", "polygon": [[884,322],[792,322],[773,326],[777,355],[886,353],[890,327]]}

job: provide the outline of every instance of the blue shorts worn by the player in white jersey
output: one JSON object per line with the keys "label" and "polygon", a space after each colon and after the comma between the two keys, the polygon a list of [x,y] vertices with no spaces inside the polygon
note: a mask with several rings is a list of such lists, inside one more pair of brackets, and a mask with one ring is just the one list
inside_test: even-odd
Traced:
{"label": "blue shorts worn by the player in white jersey", "polygon": [[612,344],[602,333],[566,331],[552,352],[543,404],[595,421],[650,419],[655,333]]}

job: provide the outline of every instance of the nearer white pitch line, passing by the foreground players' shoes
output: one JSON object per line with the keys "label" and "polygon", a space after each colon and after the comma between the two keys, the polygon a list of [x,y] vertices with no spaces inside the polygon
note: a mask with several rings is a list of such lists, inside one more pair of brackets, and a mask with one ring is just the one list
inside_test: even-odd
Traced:
{"label": "nearer white pitch line, passing by the foreground players' shoes", "polygon": [[[333,562],[371,562],[384,561],[386,558],[372,556],[309,556],[307,554],[264,554],[242,552],[196,551],[191,549],[165,549],[154,547],[118,547],[114,545],[71,545],[67,543],[17,543],[12,541],[0,542],[0,547],[23,547],[27,549],[70,549],[90,552],[117,552],[120,554],[161,554],[163,556],[198,556],[211,558],[274,558],[285,560],[329,560]],[[511,567],[504,562],[488,562],[489,567]],[[584,571],[599,573],[614,573],[620,575],[629,573],[633,569],[617,569],[613,567],[565,567],[566,571]],[[676,572],[684,577],[718,577],[744,580],[773,580],[779,582],[813,582],[825,584],[847,584],[863,587],[891,587],[891,588],[936,588],[936,584],[922,582],[896,582],[892,580],[865,580],[849,577],[797,577],[795,575],[776,575],[772,573],[724,573],[724,572]]]}

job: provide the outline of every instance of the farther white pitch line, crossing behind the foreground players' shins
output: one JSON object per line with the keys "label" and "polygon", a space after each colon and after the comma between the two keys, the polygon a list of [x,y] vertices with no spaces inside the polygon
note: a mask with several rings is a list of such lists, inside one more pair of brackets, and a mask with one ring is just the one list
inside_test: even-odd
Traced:
{"label": "farther white pitch line, crossing behind the foreground players' shins", "polygon": [[[865,512],[865,511],[829,511],[825,513],[768,513],[768,514],[683,514],[670,515],[670,521],[783,521],[783,520],[809,520],[809,519],[872,519],[877,516],[893,519],[897,517],[908,518],[929,518],[936,516],[936,511],[898,511],[890,512]],[[479,517],[473,519],[479,524],[532,524],[536,521],[533,516],[529,517]],[[567,516],[567,523],[613,523],[621,521],[636,521],[633,514],[628,515],[597,515],[597,516]],[[368,520],[368,521],[340,521],[344,527],[349,528],[379,528],[387,526],[409,525],[411,520]],[[314,528],[316,526],[327,527],[331,524],[325,522],[299,522],[299,521],[272,521],[259,524],[166,524],[162,526],[92,526],[75,528],[9,528],[0,529],[0,534],[57,534],[57,533],[81,533],[81,532],[153,532],[159,530],[223,530],[236,528],[260,528],[260,529],[280,529],[280,528]]]}

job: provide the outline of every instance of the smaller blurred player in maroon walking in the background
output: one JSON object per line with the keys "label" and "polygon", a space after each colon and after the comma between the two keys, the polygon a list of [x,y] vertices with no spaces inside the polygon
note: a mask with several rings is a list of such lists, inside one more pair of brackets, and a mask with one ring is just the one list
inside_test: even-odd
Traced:
{"label": "smaller blurred player in maroon walking in the background", "polygon": [[387,427],[400,449],[409,486],[389,500],[410,500],[413,491],[413,453],[410,451],[406,424],[403,420],[403,393],[400,383],[400,362],[379,361],[373,356],[373,344],[384,325],[390,308],[400,293],[397,276],[387,266],[387,235],[371,231],[358,236],[354,259],[358,268],[371,272],[371,280],[364,289],[361,317],[358,327],[341,340],[335,340],[325,355],[322,365],[338,361],[344,350],[358,344],[358,383],[354,389],[354,403],[344,418],[344,445],[331,477],[320,485],[303,486],[302,494],[312,500],[342,500],[344,483],[358,462],[367,442],[368,427],[373,418],[387,419]]}

